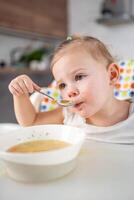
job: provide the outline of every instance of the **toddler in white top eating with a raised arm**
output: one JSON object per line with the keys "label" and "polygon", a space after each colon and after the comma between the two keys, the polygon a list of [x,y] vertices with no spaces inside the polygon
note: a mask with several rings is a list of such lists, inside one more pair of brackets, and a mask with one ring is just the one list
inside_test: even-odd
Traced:
{"label": "toddler in white top eating with a raised arm", "polygon": [[66,124],[84,128],[90,139],[134,142],[134,106],[114,97],[119,69],[100,40],[69,37],[55,50],[51,70],[63,99],[74,105],[36,112],[29,93],[41,88],[27,75],[20,75],[9,84],[20,125]]}

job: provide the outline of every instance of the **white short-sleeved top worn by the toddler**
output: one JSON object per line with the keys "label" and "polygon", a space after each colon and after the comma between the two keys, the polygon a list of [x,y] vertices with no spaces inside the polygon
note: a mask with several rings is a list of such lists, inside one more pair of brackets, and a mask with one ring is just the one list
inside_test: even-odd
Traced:
{"label": "white short-sleeved top worn by the toddler", "polygon": [[111,143],[134,143],[134,103],[130,104],[129,117],[126,120],[109,127],[87,124],[84,118],[70,113],[68,108],[64,108],[63,114],[64,124],[84,129],[88,139]]}

